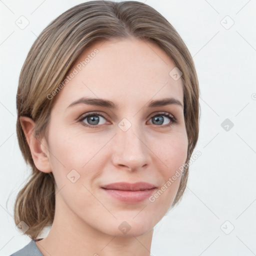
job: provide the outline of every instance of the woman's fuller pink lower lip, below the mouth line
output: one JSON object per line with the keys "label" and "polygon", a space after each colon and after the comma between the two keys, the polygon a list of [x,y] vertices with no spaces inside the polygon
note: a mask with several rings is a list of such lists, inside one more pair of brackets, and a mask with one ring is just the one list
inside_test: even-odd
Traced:
{"label": "woman's fuller pink lower lip, below the mouth line", "polygon": [[120,201],[126,203],[138,203],[148,198],[156,188],[138,190],[138,191],[124,191],[117,189],[106,189],[102,188],[106,193]]}

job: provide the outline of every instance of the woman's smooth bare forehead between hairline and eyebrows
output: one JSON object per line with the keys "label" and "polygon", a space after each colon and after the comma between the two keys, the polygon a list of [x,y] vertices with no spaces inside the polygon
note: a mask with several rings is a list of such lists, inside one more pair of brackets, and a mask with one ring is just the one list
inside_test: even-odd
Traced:
{"label": "woman's smooth bare forehead between hairline and eyebrows", "polygon": [[56,103],[64,107],[82,96],[103,97],[119,106],[162,97],[183,102],[181,78],[169,75],[174,67],[171,58],[152,42],[135,38],[97,42],[70,68]]}

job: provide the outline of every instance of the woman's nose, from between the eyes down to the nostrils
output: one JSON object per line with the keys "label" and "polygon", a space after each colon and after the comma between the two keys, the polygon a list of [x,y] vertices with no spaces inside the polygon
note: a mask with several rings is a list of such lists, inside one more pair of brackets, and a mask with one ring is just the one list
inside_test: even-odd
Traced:
{"label": "woman's nose, from between the eyes down to the nostrils", "polygon": [[116,128],[112,141],[112,163],[130,171],[146,168],[150,162],[150,149],[139,127],[132,124],[126,131]]}

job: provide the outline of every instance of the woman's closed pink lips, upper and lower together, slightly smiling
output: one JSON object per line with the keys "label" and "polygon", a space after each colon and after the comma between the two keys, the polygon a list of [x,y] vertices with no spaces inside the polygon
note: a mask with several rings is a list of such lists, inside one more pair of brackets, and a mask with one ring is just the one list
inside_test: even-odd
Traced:
{"label": "woman's closed pink lips, upper and lower together, slightly smiling", "polygon": [[138,203],[148,198],[156,189],[156,186],[146,182],[116,182],[103,185],[101,188],[112,197],[123,202]]}

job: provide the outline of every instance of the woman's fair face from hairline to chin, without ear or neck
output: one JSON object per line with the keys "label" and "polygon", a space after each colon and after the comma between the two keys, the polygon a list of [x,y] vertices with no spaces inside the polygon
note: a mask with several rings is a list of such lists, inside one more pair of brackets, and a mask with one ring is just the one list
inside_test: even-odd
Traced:
{"label": "woman's fair face from hairline to chin, without ear or neck", "polygon": [[[182,81],[169,75],[174,67],[161,48],[138,39],[98,42],[79,56],[50,115],[55,217],[118,236],[142,235],[163,217],[181,175],[170,179],[185,163],[188,145]],[[176,101],[148,106],[163,98]],[[155,188],[106,189],[115,182]]]}

